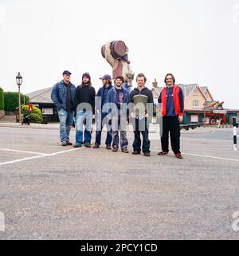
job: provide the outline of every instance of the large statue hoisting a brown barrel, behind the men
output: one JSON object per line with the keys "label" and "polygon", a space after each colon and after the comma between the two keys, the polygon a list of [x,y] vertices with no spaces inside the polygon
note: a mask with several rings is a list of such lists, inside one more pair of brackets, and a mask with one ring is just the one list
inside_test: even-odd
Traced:
{"label": "large statue hoisting a brown barrel, behind the men", "polygon": [[112,66],[113,79],[122,76],[127,87],[131,87],[135,73],[131,70],[130,61],[127,57],[127,45],[123,41],[109,41],[102,46],[101,53]]}

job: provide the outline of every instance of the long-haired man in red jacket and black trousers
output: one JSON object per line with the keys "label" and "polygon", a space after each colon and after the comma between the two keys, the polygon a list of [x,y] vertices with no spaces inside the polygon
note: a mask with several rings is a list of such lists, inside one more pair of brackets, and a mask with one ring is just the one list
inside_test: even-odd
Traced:
{"label": "long-haired man in red jacket and black trousers", "polygon": [[170,141],[174,155],[182,159],[180,152],[180,124],[183,120],[184,97],[182,89],[175,85],[175,78],[168,73],[164,80],[166,87],[160,93],[159,104],[161,104],[161,113],[163,116],[163,135],[161,136],[162,152],[159,156],[167,155],[169,152],[168,140],[170,132]]}

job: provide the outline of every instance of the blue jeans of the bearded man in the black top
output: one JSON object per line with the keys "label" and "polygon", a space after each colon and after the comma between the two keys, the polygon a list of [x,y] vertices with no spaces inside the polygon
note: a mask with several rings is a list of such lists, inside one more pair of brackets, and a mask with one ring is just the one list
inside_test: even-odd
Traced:
{"label": "blue jeans of the bearded man in the black top", "polygon": [[[91,144],[92,140],[92,112],[79,111],[76,112],[76,144]],[[84,123],[85,121],[85,123]],[[84,140],[83,140],[83,123],[84,127]]]}

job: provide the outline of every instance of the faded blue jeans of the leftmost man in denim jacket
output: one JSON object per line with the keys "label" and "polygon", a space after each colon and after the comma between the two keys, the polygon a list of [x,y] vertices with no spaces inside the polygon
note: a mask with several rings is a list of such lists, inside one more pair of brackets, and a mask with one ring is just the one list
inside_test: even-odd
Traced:
{"label": "faded blue jeans of the leftmost man in denim jacket", "polygon": [[66,111],[65,109],[61,108],[58,111],[58,116],[60,120],[60,139],[61,142],[69,141],[69,133],[71,130],[71,125],[73,123],[73,111]]}

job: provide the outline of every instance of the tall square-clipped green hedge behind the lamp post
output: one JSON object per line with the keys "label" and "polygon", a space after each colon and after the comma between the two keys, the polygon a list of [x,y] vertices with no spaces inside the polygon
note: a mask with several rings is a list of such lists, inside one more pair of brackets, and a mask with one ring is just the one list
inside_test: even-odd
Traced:
{"label": "tall square-clipped green hedge behind the lamp post", "polygon": [[[29,104],[29,96],[25,96],[21,93],[21,104]],[[18,108],[18,93],[15,92],[5,92],[4,93],[4,110],[5,111],[15,111]]]}

